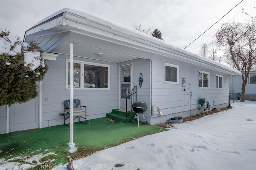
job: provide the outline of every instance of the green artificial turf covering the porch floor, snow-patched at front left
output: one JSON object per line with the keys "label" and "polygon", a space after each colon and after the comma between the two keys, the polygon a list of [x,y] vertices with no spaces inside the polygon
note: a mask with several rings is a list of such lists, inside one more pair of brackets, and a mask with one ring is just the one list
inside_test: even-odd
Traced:
{"label": "green artificial turf covering the porch floor, snow-patched at front left", "polygon": [[106,119],[92,119],[86,125],[74,123],[74,143],[78,149],[73,153],[68,151],[70,128],[65,125],[2,134],[0,157],[8,162],[37,164],[36,161],[26,162],[26,158],[44,154],[39,161],[41,164],[31,169],[49,169],[61,163],[66,164],[70,157],[82,158],[134,138],[168,130],[144,124],[138,127],[137,122],[111,123]]}

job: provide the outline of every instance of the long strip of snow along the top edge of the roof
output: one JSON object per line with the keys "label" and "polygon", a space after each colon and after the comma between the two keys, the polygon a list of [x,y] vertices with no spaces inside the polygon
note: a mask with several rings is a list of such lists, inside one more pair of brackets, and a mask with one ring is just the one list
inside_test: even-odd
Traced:
{"label": "long strip of snow along the top edge of the roof", "polygon": [[156,45],[160,45],[162,47],[167,47],[167,49],[172,49],[172,50],[178,51],[179,53],[183,53],[185,55],[189,55],[191,57],[194,57],[195,59],[202,60],[202,61],[204,61],[206,63],[214,64],[216,66],[219,66],[221,68],[229,70],[230,72],[234,72],[234,73],[237,73],[239,75],[242,75],[242,73],[239,70],[235,70],[233,68],[230,68],[230,67],[228,67],[228,66],[226,66],[224,64],[220,64],[220,63],[218,63],[216,61],[213,61],[211,59],[208,59],[206,57],[198,56],[195,53],[192,53],[190,51],[186,51],[186,50],[181,49],[180,47],[176,47],[176,46],[174,46],[174,45],[172,45],[170,43],[166,43],[163,40],[160,40],[160,39],[158,39],[156,37],[152,37],[152,36],[150,36],[150,35],[148,35],[146,33],[140,32],[138,30],[132,29],[131,27],[122,25],[122,24],[117,23],[117,22],[112,21],[112,20],[108,20],[108,19],[103,18],[101,16],[97,16],[96,14],[92,14],[92,13],[84,12],[84,11],[80,11],[80,10],[74,10],[74,9],[71,9],[71,8],[63,8],[63,9],[61,9],[61,10],[55,12],[54,14],[52,14],[52,15],[44,18],[43,20],[39,21],[38,23],[36,23],[32,27],[30,27],[29,29],[32,29],[36,25],[39,25],[39,24],[43,23],[44,21],[50,20],[51,18],[54,18],[55,16],[57,16],[57,15],[63,13],[63,12],[70,12],[72,14],[76,14],[78,16],[87,18],[88,20],[91,20],[91,21],[94,21],[94,22],[104,23],[104,25],[110,27],[111,29],[113,29],[115,31],[119,31],[119,32],[124,33],[126,35],[134,36],[134,37],[137,37],[137,38],[142,39],[142,40],[150,41],[151,43],[154,43]]}

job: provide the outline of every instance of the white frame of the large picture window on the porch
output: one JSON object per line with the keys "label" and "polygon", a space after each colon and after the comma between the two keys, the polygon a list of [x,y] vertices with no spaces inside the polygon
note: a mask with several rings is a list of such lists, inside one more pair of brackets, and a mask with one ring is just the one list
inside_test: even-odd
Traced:
{"label": "white frame of the large picture window on the porch", "polygon": [[[68,63],[70,63],[70,59],[66,59],[66,90],[70,90],[70,87],[68,87]],[[92,62],[86,62],[86,61],[78,61],[74,60],[74,63],[81,64],[81,70],[80,70],[80,87],[74,87],[74,90],[110,90],[110,65],[108,64],[100,64],[100,63],[92,63]],[[84,84],[84,64],[86,65],[92,65],[92,66],[102,66],[108,68],[108,87],[107,88],[85,88],[82,86]],[[105,77],[105,75],[104,75]],[[105,84],[105,78],[104,78],[104,84]]]}

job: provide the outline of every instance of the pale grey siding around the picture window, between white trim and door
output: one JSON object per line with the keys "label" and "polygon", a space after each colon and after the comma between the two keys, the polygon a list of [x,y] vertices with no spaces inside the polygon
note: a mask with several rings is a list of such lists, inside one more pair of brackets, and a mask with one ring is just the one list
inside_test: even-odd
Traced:
{"label": "pale grey siding around the picture window, between white trim and door", "polygon": [[[47,63],[49,70],[43,81],[42,127],[64,123],[64,117],[61,117],[59,113],[64,111],[64,100],[70,98],[70,90],[65,89],[66,58],[68,56],[59,55],[57,61]],[[81,100],[81,106],[87,106],[87,119],[105,117],[106,113],[118,108],[117,65],[77,57],[74,57],[74,60],[110,65],[110,90],[74,90],[74,99]],[[48,98],[48,101],[45,101],[45,98]]]}

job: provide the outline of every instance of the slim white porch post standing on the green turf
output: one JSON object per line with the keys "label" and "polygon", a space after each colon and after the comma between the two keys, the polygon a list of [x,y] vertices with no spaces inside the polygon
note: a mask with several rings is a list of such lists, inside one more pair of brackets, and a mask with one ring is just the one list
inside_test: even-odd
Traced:
{"label": "slim white porch post standing on the green turf", "polygon": [[68,146],[75,146],[74,139],[74,43],[70,42],[70,141]]}

